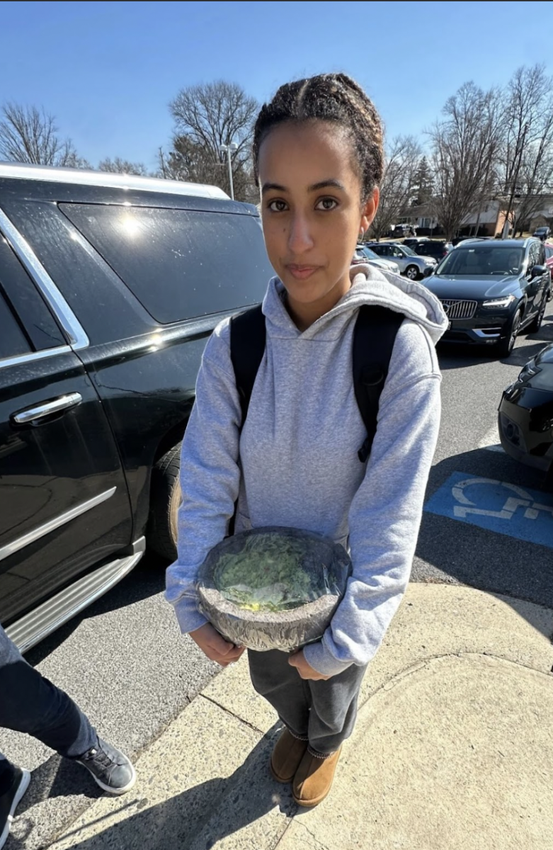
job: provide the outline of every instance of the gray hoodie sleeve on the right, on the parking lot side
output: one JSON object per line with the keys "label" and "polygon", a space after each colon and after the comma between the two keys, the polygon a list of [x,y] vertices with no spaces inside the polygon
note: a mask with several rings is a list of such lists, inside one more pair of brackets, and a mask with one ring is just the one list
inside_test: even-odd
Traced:
{"label": "gray hoodie sleeve on the right, on the parking lot side", "polygon": [[426,331],[403,322],[364,480],[349,510],[353,575],[322,640],[304,649],[325,676],[373,658],[407,587],[437,444],[440,380]]}

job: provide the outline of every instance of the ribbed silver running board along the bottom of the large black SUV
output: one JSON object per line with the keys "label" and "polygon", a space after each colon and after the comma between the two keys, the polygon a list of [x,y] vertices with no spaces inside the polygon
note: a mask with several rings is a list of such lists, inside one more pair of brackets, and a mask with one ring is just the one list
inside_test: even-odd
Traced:
{"label": "ribbed silver running board along the bottom of the large black SUV", "polygon": [[8,638],[14,641],[20,652],[31,649],[82,609],[104,596],[133,570],[143,554],[138,552],[127,558],[117,558],[93,573],[88,573],[9,626],[6,629]]}

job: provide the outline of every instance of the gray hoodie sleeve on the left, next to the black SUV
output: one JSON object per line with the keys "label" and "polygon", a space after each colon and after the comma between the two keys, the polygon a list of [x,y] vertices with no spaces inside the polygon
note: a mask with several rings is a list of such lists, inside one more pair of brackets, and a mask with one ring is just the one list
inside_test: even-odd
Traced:
{"label": "gray hoodie sleeve on the left, next to the black SUV", "polygon": [[166,571],[165,598],[174,606],[183,633],[206,623],[197,609],[195,583],[207,553],[226,536],[234,514],[240,486],[240,420],[225,320],[203,354],[181,453],[178,559]]}

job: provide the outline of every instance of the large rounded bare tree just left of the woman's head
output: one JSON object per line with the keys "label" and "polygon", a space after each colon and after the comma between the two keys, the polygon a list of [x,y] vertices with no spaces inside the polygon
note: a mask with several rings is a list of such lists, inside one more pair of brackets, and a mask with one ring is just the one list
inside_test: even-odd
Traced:
{"label": "large rounded bare tree just left of the woman's head", "polygon": [[172,151],[161,152],[161,172],[211,183],[229,192],[223,144],[234,142],[234,195],[251,200],[251,137],[259,105],[234,82],[219,80],[183,88],[170,105],[175,119]]}

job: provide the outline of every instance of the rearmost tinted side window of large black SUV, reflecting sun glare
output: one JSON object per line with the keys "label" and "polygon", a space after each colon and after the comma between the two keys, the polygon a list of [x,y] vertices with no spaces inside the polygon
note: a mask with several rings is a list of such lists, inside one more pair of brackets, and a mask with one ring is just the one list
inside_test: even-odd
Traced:
{"label": "rearmost tinted side window of large black SUV, reflecting sun glare", "polygon": [[161,324],[261,301],[271,270],[253,216],[59,205]]}

